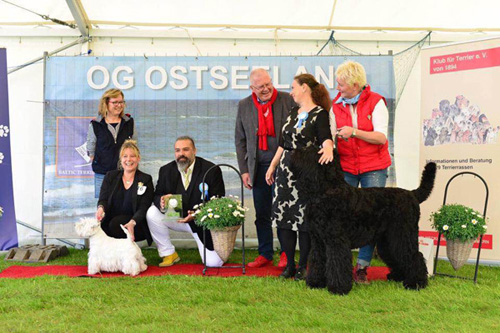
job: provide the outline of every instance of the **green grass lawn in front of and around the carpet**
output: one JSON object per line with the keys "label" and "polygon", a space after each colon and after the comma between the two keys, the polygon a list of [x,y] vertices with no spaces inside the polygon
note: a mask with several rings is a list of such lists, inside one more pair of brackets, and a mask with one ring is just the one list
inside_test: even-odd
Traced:
{"label": "green grass lawn in front of and around the carpet", "polygon": [[[143,253],[148,264],[160,262],[155,249]],[[86,265],[86,255],[70,250],[50,264]],[[183,263],[200,262],[197,250],[179,255]],[[247,259],[256,256],[247,251]],[[0,259],[0,270],[20,264]],[[230,261],[238,260],[241,252],[235,251]],[[439,271],[453,272],[449,263],[439,265]],[[474,266],[459,273],[472,277]],[[0,279],[0,332],[498,332],[499,282],[500,268],[485,266],[477,284],[434,277],[427,289],[410,291],[401,283],[376,281],[355,285],[347,296],[278,278]]]}

